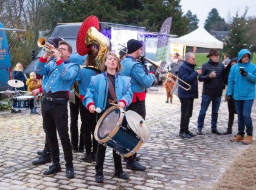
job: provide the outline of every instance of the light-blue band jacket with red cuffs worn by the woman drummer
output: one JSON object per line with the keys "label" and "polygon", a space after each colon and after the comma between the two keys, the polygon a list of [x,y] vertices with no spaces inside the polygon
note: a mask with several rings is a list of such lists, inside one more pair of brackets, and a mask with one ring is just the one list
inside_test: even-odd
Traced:
{"label": "light-blue band jacket with red cuffs worn by the woman drummer", "polygon": [[[131,78],[116,73],[116,97],[117,102],[122,101],[129,106],[133,99],[131,91]],[[107,73],[98,74],[91,77],[91,82],[87,88],[86,96],[83,99],[83,105],[89,109],[92,104],[100,110],[105,110],[108,98],[108,77]]]}

